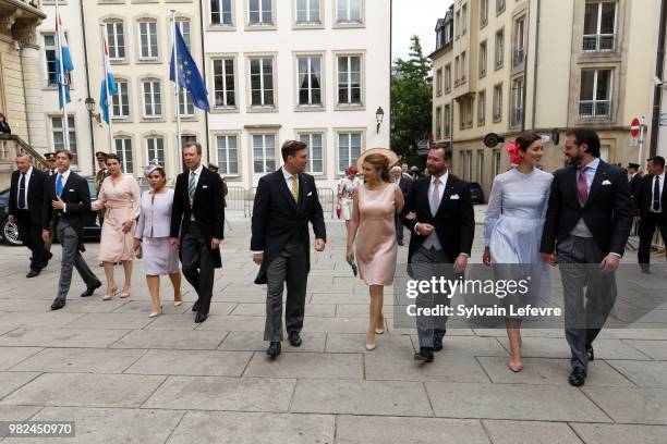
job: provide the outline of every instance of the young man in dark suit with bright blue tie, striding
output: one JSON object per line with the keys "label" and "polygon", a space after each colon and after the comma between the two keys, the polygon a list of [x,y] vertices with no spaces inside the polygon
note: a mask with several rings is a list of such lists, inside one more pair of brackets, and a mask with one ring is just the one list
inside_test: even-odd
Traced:
{"label": "young man in dark suit with bright blue tie, striding", "polygon": [[51,305],[51,310],[59,310],[65,305],[70,284],[72,283],[72,267],[86,283],[86,291],[82,297],[92,296],[101,282],[88,268],[81,256],[83,248],[83,229],[85,217],[90,212],[90,190],[85,178],[70,170],[72,152],[61,149],[56,151],[56,163],[58,174],[46,181],[44,188],[44,221],[41,226],[41,238],[47,242],[49,231],[47,226],[53,222],[56,235],[62,246],[62,266],[60,269],[60,282],[58,284],[58,296]]}

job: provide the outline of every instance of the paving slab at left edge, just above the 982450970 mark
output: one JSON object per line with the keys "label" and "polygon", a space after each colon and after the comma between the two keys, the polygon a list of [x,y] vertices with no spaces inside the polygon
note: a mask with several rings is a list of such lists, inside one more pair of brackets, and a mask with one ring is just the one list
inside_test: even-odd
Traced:
{"label": "paving slab at left edge, just above the 982450970 mark", "polygon": [[2,400],[2,405],[140,407],[165,381],[136,374],[45,373]]}

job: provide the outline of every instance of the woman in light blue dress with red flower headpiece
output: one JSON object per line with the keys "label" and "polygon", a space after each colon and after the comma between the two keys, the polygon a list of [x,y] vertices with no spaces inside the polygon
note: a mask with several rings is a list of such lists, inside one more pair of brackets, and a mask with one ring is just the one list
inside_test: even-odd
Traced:
{"label": "woman in light blue dress with red flower headpiece", "polygon": [[[553,175],[537,166],[544,155],[537,134],[523,134],[506,147],[516,166],[496,176],[484,222],[483,261],[494,263],[496,279],[530,279],[522,296],[506,297],[502,305],[533,307],[549,298],[549,270],[539,255],[539,243]],[[506,318],[510,343],[510,370],[521,371],[521,319]]]}

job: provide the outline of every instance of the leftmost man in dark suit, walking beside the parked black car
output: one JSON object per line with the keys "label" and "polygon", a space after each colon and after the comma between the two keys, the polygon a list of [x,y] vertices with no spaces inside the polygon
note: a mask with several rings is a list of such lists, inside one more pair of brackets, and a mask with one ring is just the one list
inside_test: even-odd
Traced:
{"label": "leftmost man in dark suit, walking beside the parked black car", "polygon": [[50,259],[41,239],[46,174],[34,168],[26,155],[16,156],[16,168],[11,178],[8,220],[16,223],[23,245],[33,254],[26,278],[35,278]]}

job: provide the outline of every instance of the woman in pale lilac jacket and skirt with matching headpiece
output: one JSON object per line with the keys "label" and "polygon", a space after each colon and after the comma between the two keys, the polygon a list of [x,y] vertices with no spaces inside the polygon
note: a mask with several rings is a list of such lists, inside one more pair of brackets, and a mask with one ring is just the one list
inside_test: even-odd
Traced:
{"label": "woman in pale lilac jacket and skirt with matching headpiece", "polygon": [[142,212],[134,234],[134,249],[142,248],[148,293],[153,299],[155,318],[162,313],[160,304],[160,275],[168,274],[173,286],[173,305],[182,304],[179,252],[169,244],[173,189],[167,188],[167,176],[160,165],[144,169],[150,190],[142,195]]}

